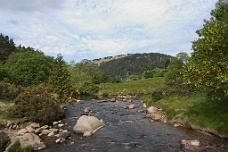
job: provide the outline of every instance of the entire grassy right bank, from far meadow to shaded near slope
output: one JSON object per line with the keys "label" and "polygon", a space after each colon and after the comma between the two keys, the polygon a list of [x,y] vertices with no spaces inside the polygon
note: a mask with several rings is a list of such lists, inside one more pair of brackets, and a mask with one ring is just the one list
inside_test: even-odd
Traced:
{"label": "entire grassy right bank, from far meadow to shaded near slope", "polygon": [[170,96],[153,102],[151,92],[165,86],[163,78],[152,78],[120,84],[105,84],[100,93],[107,94],[144,94],[143,100],[150,105],[161,107],[168,121],[179,122],[193,128],[221,137],[228,137],[228,99],[211,101],[203,94],[188,97]]}

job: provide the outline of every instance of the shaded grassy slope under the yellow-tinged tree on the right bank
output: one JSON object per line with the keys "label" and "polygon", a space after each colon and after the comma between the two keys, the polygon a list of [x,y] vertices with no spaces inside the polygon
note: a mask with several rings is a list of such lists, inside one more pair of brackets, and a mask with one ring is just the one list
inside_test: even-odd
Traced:
{"label": "shaded grassy slope under the yellow-tinged tree on the right bank", "polygon": [[228,136],[228,102],[208,100],[204,95],[190,97],[171,96],[153,102],[149,95],[144,96],[150,105],[163,108],[171,122],[181,122],[185,127],[212,131]]}

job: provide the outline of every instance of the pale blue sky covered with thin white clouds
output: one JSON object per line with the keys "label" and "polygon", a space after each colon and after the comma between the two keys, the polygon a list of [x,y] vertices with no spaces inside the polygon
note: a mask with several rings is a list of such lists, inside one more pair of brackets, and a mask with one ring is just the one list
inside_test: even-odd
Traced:
{"label": "pale blue sky covered with thin white clouds", "polygon": [[191,53],[217,0],[0,0],[0,33],[69,62]]}

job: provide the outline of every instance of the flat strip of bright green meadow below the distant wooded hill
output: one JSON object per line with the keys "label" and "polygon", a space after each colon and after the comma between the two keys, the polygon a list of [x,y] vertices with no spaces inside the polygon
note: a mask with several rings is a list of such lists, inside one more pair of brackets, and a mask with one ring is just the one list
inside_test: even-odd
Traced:
{"label": "flat strip of bright green meadow below the distant wooded hill", "polygon": [[101,84],[99,94],[148,94],[164,85],[164,78],[161,77],[124,83]]}

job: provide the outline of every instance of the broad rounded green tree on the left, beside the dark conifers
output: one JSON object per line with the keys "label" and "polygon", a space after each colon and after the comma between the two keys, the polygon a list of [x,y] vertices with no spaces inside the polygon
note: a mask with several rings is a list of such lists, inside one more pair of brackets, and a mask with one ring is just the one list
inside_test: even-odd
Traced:
{"label": "broad rounded green tree on the left, beside the dark conifers", "polygon": [[42,52],[19,50],[9,56],[6,67],[12,83],[29,86],[47,82],[52,64],[53,58]]}

